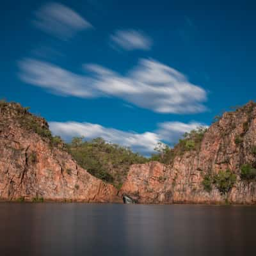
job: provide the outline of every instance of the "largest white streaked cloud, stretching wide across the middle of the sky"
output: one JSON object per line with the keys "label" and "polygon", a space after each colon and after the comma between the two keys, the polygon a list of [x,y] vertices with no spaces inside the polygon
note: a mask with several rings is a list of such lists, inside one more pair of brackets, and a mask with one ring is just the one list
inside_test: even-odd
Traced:
{"label": "largest white streaked cloud, stretching wide across the middle of the sky", "polygon": [[158,113],[205,111],[206,92],[179,71],[155,60],[140,60],[126,76],[99,65],[84,65],[87,76],[44,61],[19,62],[22,81],[75,97],[118,97]]}

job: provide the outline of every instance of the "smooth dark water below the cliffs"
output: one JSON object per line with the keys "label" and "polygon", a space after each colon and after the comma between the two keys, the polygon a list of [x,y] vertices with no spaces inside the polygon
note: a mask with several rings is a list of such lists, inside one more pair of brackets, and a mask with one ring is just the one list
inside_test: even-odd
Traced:
{"label": "smooth dark water below the cliffs", "polygon": [[0,204],[0,255],[255,255],[256,207]]}

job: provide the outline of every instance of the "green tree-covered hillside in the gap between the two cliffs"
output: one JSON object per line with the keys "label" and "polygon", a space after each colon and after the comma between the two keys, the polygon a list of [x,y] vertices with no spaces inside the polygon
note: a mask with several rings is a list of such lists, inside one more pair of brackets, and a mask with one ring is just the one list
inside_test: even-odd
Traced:
{"label": "green tree-covered hillside in the gap between the two cliffs", "polygon": [[84,141],[76,137],[66,145],[77,163],[93,176],[120,187],[131,164],[146,163],[148,159],[129,148],[107,143],[102,138]]}

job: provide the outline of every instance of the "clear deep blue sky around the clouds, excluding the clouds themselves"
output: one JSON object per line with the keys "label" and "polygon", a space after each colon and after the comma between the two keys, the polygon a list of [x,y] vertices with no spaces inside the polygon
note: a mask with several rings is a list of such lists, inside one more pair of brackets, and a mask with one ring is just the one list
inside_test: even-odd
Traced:
{"label": "clear deep blue sky around the clouds, excluding the clouds themselves", "polygon": [[[123,131],[154,131],[167,121],[211,124],[214,115],[256,98],[255,1],[59,1],[93,24],[68,41],[36,29],[33,12],[45,1],[1,1],[0,97],[30,106],[47,121],[91,122]],[[152,38],[150,51],[115,51],[109,35],[140,29]],[[44,51],[49,61],[81,74],[97,63],[125,74],[140,58],[153,58],[185,74],[208,92],[204,113],[154,113],[127,108],[121,99],[61,97],[20,81],[17,62]],[[34,52],[34,53],[33,53]],[[36,56],[38,58],[38,56]],[[129,103],[128,103],[129,104]]]}

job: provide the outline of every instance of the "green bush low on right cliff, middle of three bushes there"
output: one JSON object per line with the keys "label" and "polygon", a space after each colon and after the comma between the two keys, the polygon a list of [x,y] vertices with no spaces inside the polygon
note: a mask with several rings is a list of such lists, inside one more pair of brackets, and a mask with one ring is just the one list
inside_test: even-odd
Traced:
{"label": "green bush low on right cliff, middle of three bushes there", "polygon": [[224,195],[228,193],[236,182],[236,174],[230,172],[230,170],[221,170],[218,174],[214,175],[213,183],[216,188],[219,189],[220,193]]}

